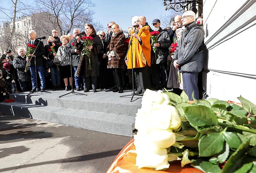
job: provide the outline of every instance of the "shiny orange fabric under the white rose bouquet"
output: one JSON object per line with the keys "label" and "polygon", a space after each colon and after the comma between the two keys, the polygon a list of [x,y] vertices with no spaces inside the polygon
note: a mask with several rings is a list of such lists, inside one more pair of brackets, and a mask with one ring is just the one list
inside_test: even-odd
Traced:
{"label": "shiny orange fabric under the white rose bouquet", "polygon": [[179,161],[172,162],[170,167],[165,171],[155,171],[146,168],[138,169],[135,165],[136,155],[133,139],[116,156],[116,159],[107,170],[107,173],[202,173],[202,171],[192,168],[189,165],[185,165],[182,168]]}

